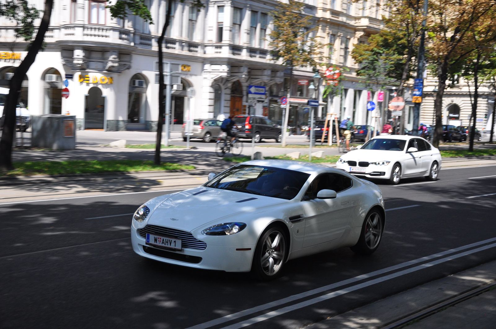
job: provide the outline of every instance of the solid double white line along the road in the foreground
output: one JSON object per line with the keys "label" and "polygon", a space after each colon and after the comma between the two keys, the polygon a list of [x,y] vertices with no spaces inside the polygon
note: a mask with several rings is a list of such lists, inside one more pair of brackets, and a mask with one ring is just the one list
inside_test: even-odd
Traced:
{"label": "solid double white line along the road in the foreground", "polygon": [[401,268],[404,268],[404,267],[407,267],[407,266],[410,266],[410,265],[418,264],[418,263],[421,263],[421,262],[424,262],[424,261],[428,261],[428,260],[431,260],[431,259],[434,259],[434,258],[438,258],[438,257],[445,256],[445,255],[448,255],[448,254],[452,254],[452,253],[455,253],[455,252],[459,252],[459,251],[462,251],[462,250],[465,250],[465,249],[469,249],[469,248],[472,248],[472,247],[480,246],[481,244],[491,243],[491,242],[494,242],[494,241],[496,241],[496,237],[491,238],[491,239],[487,239],[487,240],[484,240],[484,241],[474,242],[474,243],[471,243],[471,244],[468,244],[468,245],[465,245],[465,246],[462,246],[462,247],[453,248],[453,249],[450,249],[450,250],[446,250],[446,251],[443,251],[443,252],[440,252],[440,253],[437,253],[437,254],[433,254],[433,255],[430,255],[430,256],[425,256],[425,257],[422,257],[422,258],[418,258],[418,259],[415,259],[415,260],[412,260],[412,261],[408,261],[408,262],[405,262],[405,263],[401,263],[401,264],[398,264],[398,265],[393,265],[393,266],[390,266],[390,267],[385,268],[385,269],[382,269],[382,270],[377,270],[377,271],[374,271],[374,272],[371,272],[371,273],[367,273],[367,274],[362,274],[362,275],[359,275],[359,276],[355,276],[355,277],[352,277],[352,278],[349,278],[349,279],[346,279],[346,280],[343,280],[343,281],[340,281],[340,282],[331,283],[331,284],[328,284],[328,285],[323,286],[323,287],[320,287],[320,288],[315,288],[313,290],[309,290],[309,291],[302,292],[302,293],[299,293],[299,294],[296,294],[296,295],[292,295],[292,296],[289,296],[289,297],[286,297],[286,298],[282,298],[282,299],[279,299],[279,300],[276,300],[276,301],[273,301],[273,302],[270,302],[270,303],[266,303],[266,304],[263,304],[263,305],[255,306],[255,307],[252,307],[252,308],[247,309],[247,310],[244,310],[244,311],[240,311],[240,312],[237,312],[237,313],[226,315],[226,316],[224,316],[222,318],[214,319],[214,320],[211,320],[211,321],[208,321],[208,322],[199,324],[199,325],[195,325],[195,326],[189,327],[187,329],[206,329],[206,328],[210,328],[210,327],[213,327],[213,326],[216,326],[216,325],[219,325],[219,324],[222,324],[222,323],[231,321],[231,320],[235,320],[235,319],[239,319],[239,318],[245,317],[247,315],[250,315],[250,314],[253,314],[253,313],[256,313],[256,312],[264,311],[266,309],[269,309],[269,308],[272,308],[272,307],[275,307],[275,306],[280,306],[280,305],[289,303],[289,302],[294,301],[294,300],[298,300],[298,299],[305,298],[305,297],[310,297],[312,295],[315,295],[315,294],[320,293],[320,292],[324,292],[326,290],[338,288],[338,287],[341,287],[343,285],[346,285],[346,284],[349,284],[349,283],[353,283],[353,282],[357,282],[357,281],[360,281],[360,280],[363,280],[363,279],[366,279],[366,278],[369,278],[369,277],[372,277],[372,276],[375,276],[375,275],[384,274],[384,273],[391,272],[391,271],[394,271],[394,270],[398,270],[398,269],[401,269]]}

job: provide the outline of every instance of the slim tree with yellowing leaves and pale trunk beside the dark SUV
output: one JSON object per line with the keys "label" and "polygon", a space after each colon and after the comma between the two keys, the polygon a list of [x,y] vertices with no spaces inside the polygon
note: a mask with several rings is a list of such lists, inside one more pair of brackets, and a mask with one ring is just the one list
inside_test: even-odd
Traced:
{"label": "slim tree with yellowing leaves and pale trunk beside the dark SUV", "polygon": [[319,52],[323,45],[313,35],[317,27],[313,24],[313,17],[304,12],[305,6],[303,1],[289,0],[288,3],[280,2],[274,10],[269,12],[274,25],[268,35],[270,55],[273,61],[280,61],[290,69],[288,104],[282,129],[283,147],[286,147],[293,69],[310,66],[313,71],[317,71],[319,65],[317,60],[323,59]]}

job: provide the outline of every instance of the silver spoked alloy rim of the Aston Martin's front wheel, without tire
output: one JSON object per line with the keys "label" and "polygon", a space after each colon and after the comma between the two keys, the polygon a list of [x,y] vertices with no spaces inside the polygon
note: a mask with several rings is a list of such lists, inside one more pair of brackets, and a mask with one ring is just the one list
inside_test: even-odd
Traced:
{"label": "silver spoked alloy rim of the Aston Martin's front wheel, without tire", "polygon": [[266,275],[275,275],[284,262],[286,244],[281,232],[275,230],[265,238],[260,264]]}

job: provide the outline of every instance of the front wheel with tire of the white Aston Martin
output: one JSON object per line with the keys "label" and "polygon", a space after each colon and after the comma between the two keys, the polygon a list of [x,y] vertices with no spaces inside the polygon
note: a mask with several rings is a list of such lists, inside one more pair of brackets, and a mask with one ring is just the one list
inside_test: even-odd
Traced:
{"label": "front wheel with tire of the white Aston Martin", "polygon": [[273,280],[282,275],[288,250],[286,233],[279,227],[270,227],[258,240],[253,254],[251,273],[263,281]]}

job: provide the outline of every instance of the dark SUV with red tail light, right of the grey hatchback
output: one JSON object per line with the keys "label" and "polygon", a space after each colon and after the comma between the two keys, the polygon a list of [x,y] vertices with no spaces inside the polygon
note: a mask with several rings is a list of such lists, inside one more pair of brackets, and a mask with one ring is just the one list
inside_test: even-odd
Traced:
{"label": "dark SUV with red tail light, right of the grey hatchback", "polygon": [[253,137],[255,134],[255,143],[260,143],[263,138],[275,139],[277,143],[281,142],[281,127],[265,116],[261,115],[236,115],[234,117],[236,129],[238,129],[239,138]]}

